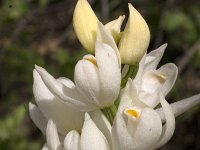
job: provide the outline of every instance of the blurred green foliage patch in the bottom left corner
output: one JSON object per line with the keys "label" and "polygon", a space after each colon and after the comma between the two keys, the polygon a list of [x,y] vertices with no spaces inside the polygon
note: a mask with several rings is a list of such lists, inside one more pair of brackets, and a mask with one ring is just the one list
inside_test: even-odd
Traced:
{"label": "blurred green foliage patch in the bottom left corner", "polygon": [[40,148],[39,143],[27,138],[31,129],[23,124],[26,118],[27,112],[21,105],[0,121],[1,149],[35,150]]}

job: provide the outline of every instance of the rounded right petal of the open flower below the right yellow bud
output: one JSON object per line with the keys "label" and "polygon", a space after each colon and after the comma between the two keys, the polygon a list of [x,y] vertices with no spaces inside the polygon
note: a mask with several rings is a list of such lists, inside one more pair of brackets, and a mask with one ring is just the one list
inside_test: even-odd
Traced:
{"label": "rounded right petal of the open flower below the right yellow bud", "polygon": [[162,93],[164,96],[168,94],[168,92],[172,89],[177,75],[178,75],[178,68],[176,67],[175,64],[173,63],[168,63],[163,65],[158,69],[159,72],[163,73],[166,75],[167,80],[165,81],[163,87],[162,87]]}

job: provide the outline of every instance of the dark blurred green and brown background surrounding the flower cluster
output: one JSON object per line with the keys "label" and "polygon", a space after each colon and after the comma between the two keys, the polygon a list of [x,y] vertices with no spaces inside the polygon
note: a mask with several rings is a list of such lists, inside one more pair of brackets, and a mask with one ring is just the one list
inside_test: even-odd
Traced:
{"label": "dark blurred green and brown background surrounding the flower cluster", "polygon": [[[167,97],[170,103],[200,92],[199,0],[89,2],[104,24],[128,16],[127,3],[132,3],[151,30],[148,51],[169,44],[161,64],[174,62],[180,70]],[[44,136],[28,115],[28,102],[34,101],[32,70],[38,64],[55,77],[73,79],[74,66],[86,53],[72,27],[75,5],[75,0],[0,1],[1,150],[38,150],[44,144]],[[200,149],[199,108],[177,118],[175,134],[161,150]]]}

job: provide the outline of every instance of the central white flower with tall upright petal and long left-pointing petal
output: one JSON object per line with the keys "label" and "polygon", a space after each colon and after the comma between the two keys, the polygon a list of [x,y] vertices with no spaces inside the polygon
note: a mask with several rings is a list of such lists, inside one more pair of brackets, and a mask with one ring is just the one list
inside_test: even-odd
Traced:
{"label": "central white flower with tall upright petal and long left-pointing petal", "polygon": [[[75,66],[75,86],[69,88],[36,66],[47,88],[58,98],[81,111],[92,111],[112,105],[121,82],[121,60],[110,32],[99,23],[95,57],[85,55]],[[72,82],[72,81],[70,81]],[[72,83],[73,84],[73,83]]]}

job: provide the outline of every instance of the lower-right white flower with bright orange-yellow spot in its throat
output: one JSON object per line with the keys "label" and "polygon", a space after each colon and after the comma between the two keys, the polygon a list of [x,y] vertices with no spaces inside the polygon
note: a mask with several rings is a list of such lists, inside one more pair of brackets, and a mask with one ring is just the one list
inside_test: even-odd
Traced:
{"label": "lower-right white flower with bright orange-yellow spot in its throat", "polygon": [[129,79],[122,92],[112,127],[113,146],[116,150],[155,149],[164,145],[173,135],[174,114],[163,95],[160,94],[159,100],[166,120],[164,126],[159,114],[140,101],[138,94],[134,82]]}

